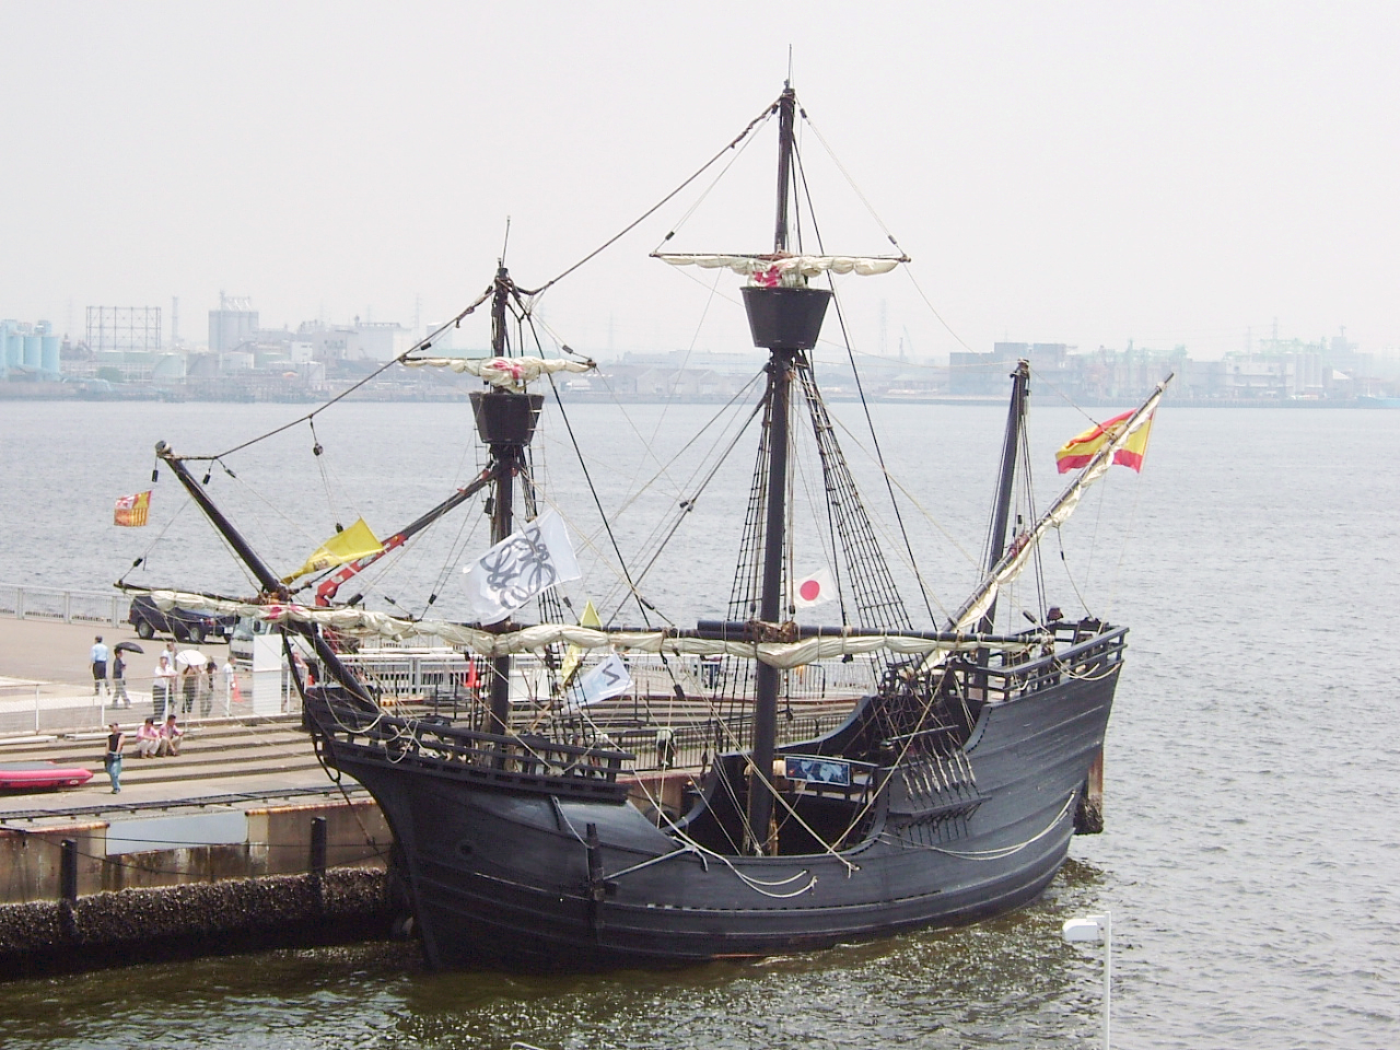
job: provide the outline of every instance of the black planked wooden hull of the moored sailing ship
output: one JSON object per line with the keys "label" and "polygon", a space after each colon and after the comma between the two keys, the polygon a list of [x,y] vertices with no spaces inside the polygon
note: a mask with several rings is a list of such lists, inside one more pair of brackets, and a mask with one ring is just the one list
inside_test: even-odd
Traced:
{"label": "black planked wooden hull of the moored sailing ship", "polygon": [[703,854],[623,802],[463,784],[365,760],[333,735],[322,746],[393,827],[431,966],[679,966],[963,924],[1032,900],[1064,861],[1117,673],[987,704],[963,748],[976,805],[930,818],[881,792],[869,832],[840,855]]}

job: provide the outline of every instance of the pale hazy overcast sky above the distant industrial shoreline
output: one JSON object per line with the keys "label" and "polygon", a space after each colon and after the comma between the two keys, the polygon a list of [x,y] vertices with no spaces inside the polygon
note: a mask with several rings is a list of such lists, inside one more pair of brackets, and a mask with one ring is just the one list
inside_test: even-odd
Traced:
{"label": "pale hazy overcast sky above the distant industrial shoreline", "polygon": [[[221,291],[266,326],[442,321],[507,218],[538,287],[720,153],[791,50],[826,249],[888,230],[914,260],[839,284],[860,353],[1400,346],[1396,3],[0,0],[0,318],[74,337],[91,305],[169,335],[178,297],[204,342]],[[749,349],[738,277],[647,256],[673,228],[771,248],[774,151],[769,122],[550,287],[546,337]]]}

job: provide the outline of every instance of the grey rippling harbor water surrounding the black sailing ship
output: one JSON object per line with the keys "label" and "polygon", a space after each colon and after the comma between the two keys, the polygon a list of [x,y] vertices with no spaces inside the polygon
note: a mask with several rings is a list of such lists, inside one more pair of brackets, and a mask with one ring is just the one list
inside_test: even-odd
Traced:
{"label": "grey rippling harbor water surrounding the black sailing ship", "polygon": [[[553,413],[553,405],[546,413]],[[581,550],[638,550],[690,500],[676,556],[641,591],[678,624],[722,612],[752,442],[701,486],[694,449],[640,449],[717,406],[591,403],[539,442],[536,473]],[[885,486],[858,406],[834,416],[872,505]],[[977,577],[1004,410],[872,406],[927,606]],[[151,448],[220,454],[297,406],[11,403],[0,413],[0,580],[101,588],[147,557],[143,585],[246,591],[168,470],[151,524],[112,525],[151,486]],[[1102,414],[1113,414],[1106,412]],[[1037,500],[1078,412],[1033,409]],[[697,448],[725,444],[715,428]],[[321,444],[323,455],[314,455]],[[864,451],[862,451],[864,449]],[[1102,956],[1065,918],[1110,910],[1120,1047],[1393,1047],[1400,1042],[1400,412],[1158,413],[1141,476],[1116,468],[1051,536],[1054,603],[1131,627],[1106,753],[1102,836],[1077,837],[1050,889],[980,925],[675,973],[515,977],[426,972],[412,944],[190,960],[0,986],[0,1046],[39,1047],[1050,1047],[1096,1046]],[[382,536],[480,462],[465,405],[347,405],[210,463],[210,489],[290,571],[361,514]],[[227,469],[225,469],[227,468]],[[647,484],[648,479],[651,480]],[[819,477],[798,475],[795,486]],[[644,487],[645,486],[645,487]],[[623,511],[630,494],[641,491]],[[615,519],[598,528],[596,500]],[[696,493],[699,498],[694,497]],[[652,512],[648,518],[648,512]],[[414,615],[454,615],[461,564],[484,546],[473,501],[440,546],[365,581]],[[914,587],[888,510],[882,536]],[[160,542],[155,542],[155,540]],[[286,566],[286,568],[283,568]],[[805,571],[809,566],[798,566]],[[606,570],[577,595],[616,588]],[[1082,601],[1078,594],[1082,594]],[[346,596],[346,595],[342,595]],[[616,605],[616,602],[613,602]],[[382,603],[379,608],[385,608]],[[637,623],[641,613],[620,617]],[[192,945],[192,955],[217,945]]]}

